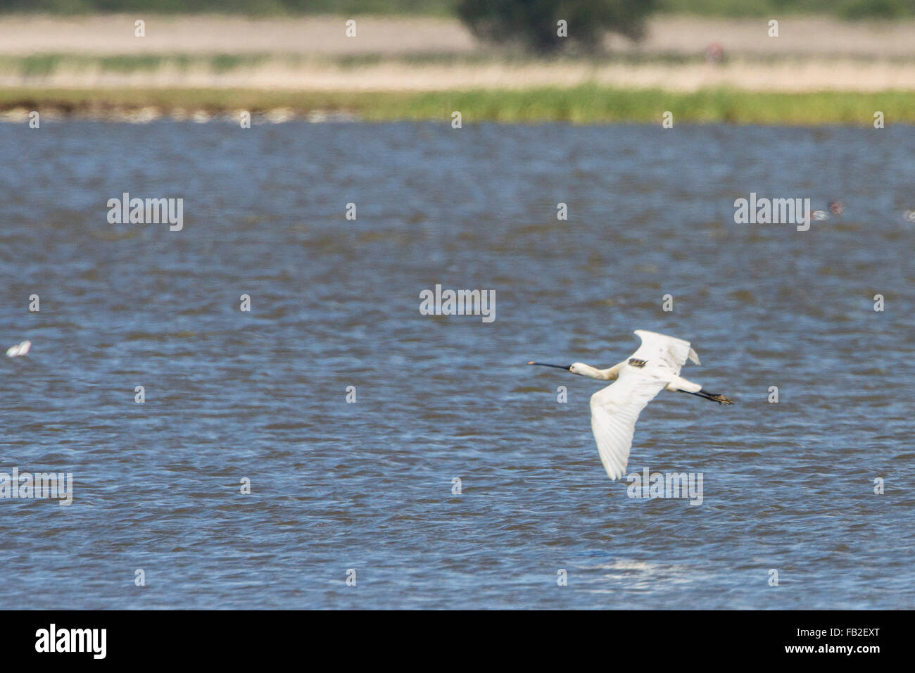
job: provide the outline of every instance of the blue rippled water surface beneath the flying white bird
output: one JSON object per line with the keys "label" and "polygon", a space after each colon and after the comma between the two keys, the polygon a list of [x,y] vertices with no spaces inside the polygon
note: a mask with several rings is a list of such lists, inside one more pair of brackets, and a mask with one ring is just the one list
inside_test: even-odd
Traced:
{"label": "blue rippled water surface beneath the flying white bird", "polygon": [[[0,499],[0,607],[915,606],[910,127],[64,121],[0,147],[0,345],[33,343],[0,360],[0,472],[73,479],[69,506]],[[108,223],[124,192],[182,198],[183,229]],[[845,212],[736,224],[750,192]],[[436,284],[494,290],[495,320],[422,315]],[[630,472],[701,472],[701,505],[628,497],[600,384],[524,366],[608,366],[635,329],[737,399],[640,417]]]}

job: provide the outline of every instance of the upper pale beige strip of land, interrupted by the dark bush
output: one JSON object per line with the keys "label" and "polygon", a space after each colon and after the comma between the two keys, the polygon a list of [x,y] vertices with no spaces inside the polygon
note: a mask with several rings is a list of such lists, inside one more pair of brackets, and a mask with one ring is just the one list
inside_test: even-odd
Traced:
{"label": "upper pale beige strip of land, interrupted by the dark bush", "polygon": [[[455,19],[355,16],[357,35],[347,38],[350,16],[249,19],[240,16],[0,16],[0,54],[296,53],[468,54],[480,45]],[[632,43],[610,38],[623,52],[697,54],[716,42],[726,54],[854,55],[915,59],[915,21],[848,23],[826,17],[784,16],[779,37],[768,36],[768,19],[712,19],[658,15],[647,38]],[[145,38],[134,22],[145,21]],[[575,27],[570,27],[572,30]]]}

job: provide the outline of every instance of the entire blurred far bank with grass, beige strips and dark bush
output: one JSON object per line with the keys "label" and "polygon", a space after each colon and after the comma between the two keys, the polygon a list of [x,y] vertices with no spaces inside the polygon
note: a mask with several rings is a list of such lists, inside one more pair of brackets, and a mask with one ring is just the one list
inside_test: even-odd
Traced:
{"label": "entire blurred far bank with grass, beige strips and dark bush", "polygon": [[[915,124],[915,0],[0,0],[39,14],[58,18],[0,22],[0,115]],[[118,14],[126,28],[70,20]],[[154,15],[172,39],[137,49],[129,27]],[[363,17],[368,46],[341,16]]]}

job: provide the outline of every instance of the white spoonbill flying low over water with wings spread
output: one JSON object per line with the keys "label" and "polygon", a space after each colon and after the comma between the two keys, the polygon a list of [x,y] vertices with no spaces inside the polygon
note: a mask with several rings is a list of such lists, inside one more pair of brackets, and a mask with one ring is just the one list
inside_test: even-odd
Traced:
{"label": "white spoonbill flying low over water with wings spread", "polygon": [[709,393],[701,385],[680,376],[680,368],[687,358],[699,364],[699,356],[689,342],[653,331],[636,330],[635,334],[641,339],[639,349],[609,369],[596,369],[584,363],[565,367],[528,363],[616,382],[591,396],[591,429],[597,440],[600,461],[610,479],[619,479],[626,471],[635,422],[641,410],[662,390],[689,393],[723,405],[734,404],[726,396]]}

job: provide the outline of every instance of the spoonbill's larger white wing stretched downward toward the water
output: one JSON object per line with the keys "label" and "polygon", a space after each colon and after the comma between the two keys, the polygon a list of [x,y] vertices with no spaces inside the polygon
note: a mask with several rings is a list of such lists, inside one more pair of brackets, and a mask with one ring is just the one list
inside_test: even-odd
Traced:
{"label": "spoonbill's larger white wing stretched downward toward the water", "polygon": [[[642,340],[644,348],[644,337]],[[689,344],[686,347],[688,349]],[[591,429],[597,441],[600,461],[604,463],[610,479],[619,479],[626,472],[635,422],[641,410],[667,385],[668,379],[657,369],[625,366],[615,383],[591,396]]]}

